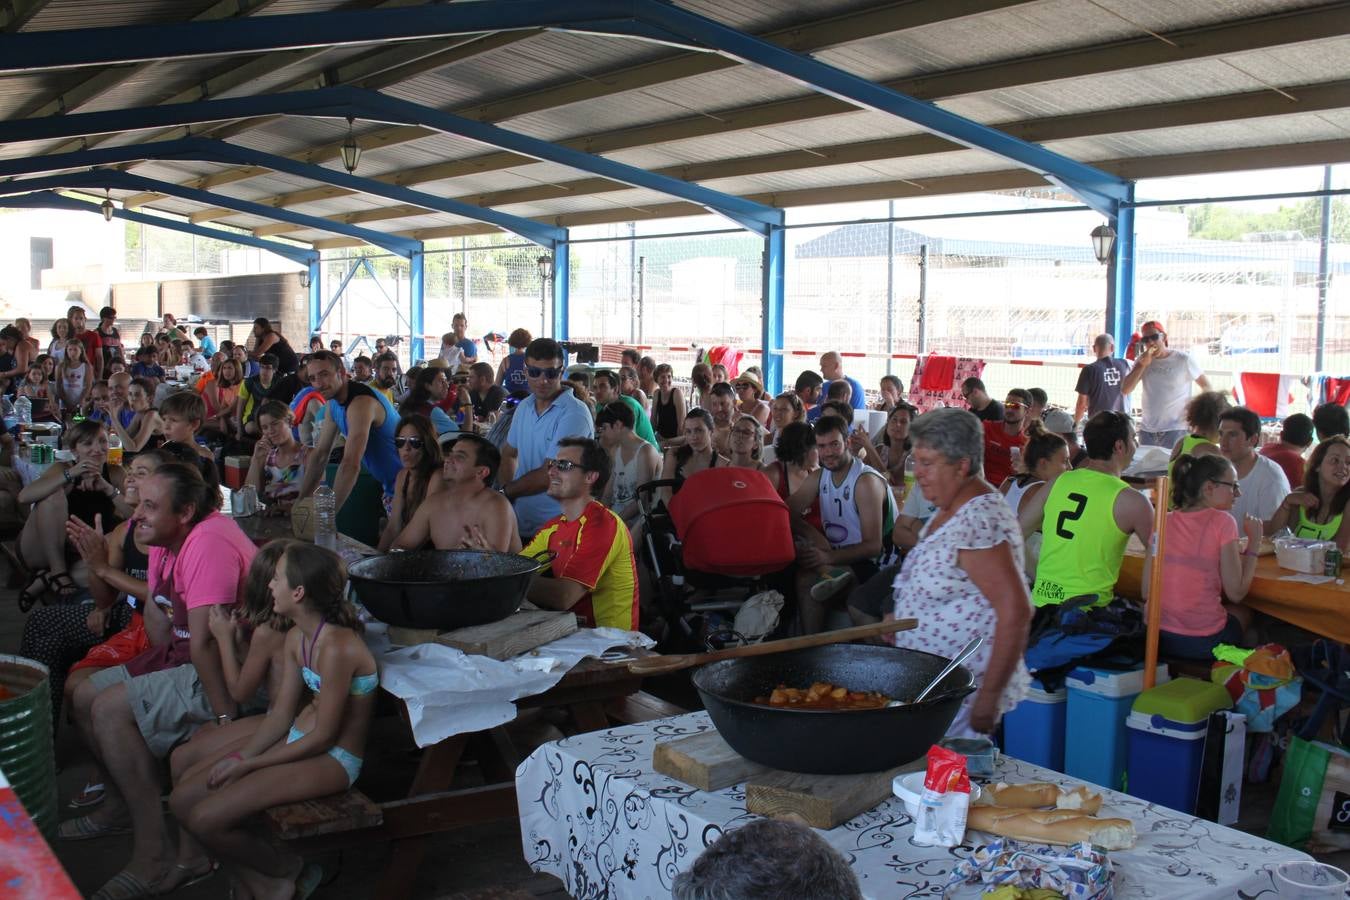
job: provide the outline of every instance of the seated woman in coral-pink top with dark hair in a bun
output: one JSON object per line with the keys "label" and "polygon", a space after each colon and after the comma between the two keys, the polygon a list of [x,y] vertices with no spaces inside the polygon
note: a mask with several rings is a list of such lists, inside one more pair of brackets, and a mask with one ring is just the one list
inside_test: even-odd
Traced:
{"label": "seated woman in coral-pink top with dark hair in a bun", "polygon": [[[1233,463],[1222,456],[1180,456],[1172,471],[1173,511],[1168,513],[1162,559],[1164,656],[1212,660],[1219,644],[1242,641],[1251,613],[1238,606],[1251,587],[1261,546],[1261,519],[1242,524],[1247,549],[1228,511],[1242,488]],[[1148,598],[1154,559],[1143,565]]]}

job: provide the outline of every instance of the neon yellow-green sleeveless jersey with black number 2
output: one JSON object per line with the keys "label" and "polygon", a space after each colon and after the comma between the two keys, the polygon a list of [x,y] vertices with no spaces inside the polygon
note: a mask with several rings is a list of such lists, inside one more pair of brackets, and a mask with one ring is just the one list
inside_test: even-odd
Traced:
{"label": "neon yellow-green sleeveless jersey with black number 2", "polygon": [[1041,522],[1041,560],[1035,567],[1035,606],[1054,606],[1095,596],[1111,602],[1120,578],[1120,557],[1130,538],[1115,524],[1115,498],[1129,484],[1091,468],[1064,472],[1050,484]]}

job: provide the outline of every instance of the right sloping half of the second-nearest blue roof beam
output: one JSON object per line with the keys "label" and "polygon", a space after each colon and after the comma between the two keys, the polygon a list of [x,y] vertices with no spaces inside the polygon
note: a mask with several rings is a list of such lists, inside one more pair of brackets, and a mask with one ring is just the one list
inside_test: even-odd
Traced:
{"label": "right sloping half of the second-nearest blue roof beam", "polygon": [[498,128],[483,121],[464,119],[463,116],[432,109],[431,107],[408,100],[398,100],[397,97],[390,97],[375,90],[363,90],[360,88],[333,88],[332,90],[351,97],[354,107],[367,108],[369,112],[364,117],[433,128],[450,135],[468,138],[490,147],[500,147],[525,157],[533,157],[535,159],[589,171],[610,181],[679,197],[680,200],[695,202],[709,212],[724,216],[741,228],[757,235],[765,235],[771,228],[782,227],[783,224],[782,209],[765,206],[753,200],[725,194],[720,190],[680,181],[670,175],[659,175],[645,169],[580,150],[572,150],[571,147],[563,147],[562,144]]}

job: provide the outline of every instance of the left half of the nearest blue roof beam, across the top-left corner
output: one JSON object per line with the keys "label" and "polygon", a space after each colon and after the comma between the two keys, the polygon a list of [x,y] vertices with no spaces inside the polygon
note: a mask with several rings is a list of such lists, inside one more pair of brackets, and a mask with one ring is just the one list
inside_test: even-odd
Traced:
{"label": "left half of the nearest blue roof beam, across the top-left corner", "polygon": [[570,24],[585,27],[591,20],[632,15],[630,0],[510,0],[34,31],[0,35],[0,73],[378,45]]}

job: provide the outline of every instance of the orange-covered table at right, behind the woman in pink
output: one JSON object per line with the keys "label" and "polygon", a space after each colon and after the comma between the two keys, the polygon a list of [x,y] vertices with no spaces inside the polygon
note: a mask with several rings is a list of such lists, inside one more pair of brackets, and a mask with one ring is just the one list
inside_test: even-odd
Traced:
{"label": "orange-covered table at right, behind the woman in pink", "polygon": [[[1350,584],[1346,584],[1346,579],[1341,579],[1341,583],[1307,584],[1284,580],[1289,575],[1297,572],[1280,568],[1274,556],[1258,557],[1251,588],[1242,603],[1314,634],[1350,644],[1350,615],[1346,615],[1350,610]],[[1139,599],[1142,578],[1143,551],[1130,546],[1120,561],[1115,592]]]}

